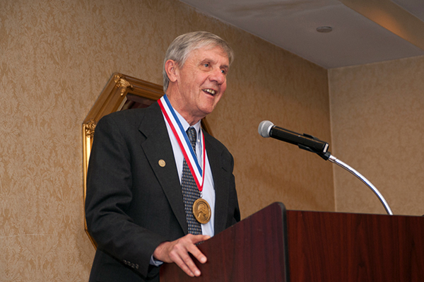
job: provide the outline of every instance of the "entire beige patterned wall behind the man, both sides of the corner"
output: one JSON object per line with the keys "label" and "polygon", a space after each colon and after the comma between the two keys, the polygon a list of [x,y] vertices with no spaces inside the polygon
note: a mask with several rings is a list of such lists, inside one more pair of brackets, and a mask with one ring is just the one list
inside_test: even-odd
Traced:
{"label": "entire beige patterned wall behind the man, both sides of the corner", "polygon": [[192,30],[216,33],[235,49],[227,93],[208,121],[235,156],[243,217],[273,201],[384,213],[345,170],[262,139],[264,119],[331,140],[331,152],[375,184],[394,213],[424,214],[424,57],[327,74],[176,0],[6,0],[0,281],[87,280],[94,249],[83,232],[81,123],[115,71],[161,83],[167,45]]}

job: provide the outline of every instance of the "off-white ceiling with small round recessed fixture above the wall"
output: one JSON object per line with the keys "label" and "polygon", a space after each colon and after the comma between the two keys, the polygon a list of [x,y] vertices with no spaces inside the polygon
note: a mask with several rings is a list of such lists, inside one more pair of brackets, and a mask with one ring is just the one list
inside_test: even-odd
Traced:
{"label": "off-white ceiling with small round recessed fixture above the wall", "polygon": [[[348,8],[342,0],[180,1],[326,69],[424,55],[423,49]],[[423,0],[384,1],[424,21]],[[321,26],[333,30],[318,33]],[[423,38],[424,30],[415,36]]]}

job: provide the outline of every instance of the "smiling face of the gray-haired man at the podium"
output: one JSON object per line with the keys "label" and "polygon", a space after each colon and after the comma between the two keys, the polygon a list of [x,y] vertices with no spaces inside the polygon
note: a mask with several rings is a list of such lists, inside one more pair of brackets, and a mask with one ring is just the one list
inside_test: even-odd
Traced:
{"label": "smiling face of the gray-haired man at the podium", "polygon": [[220,47],[206,46],[192,51],[184,66],[177,68],[183,108],[180,113],[198,120],[210,114],[227,88],[228,67],[228,56]]}

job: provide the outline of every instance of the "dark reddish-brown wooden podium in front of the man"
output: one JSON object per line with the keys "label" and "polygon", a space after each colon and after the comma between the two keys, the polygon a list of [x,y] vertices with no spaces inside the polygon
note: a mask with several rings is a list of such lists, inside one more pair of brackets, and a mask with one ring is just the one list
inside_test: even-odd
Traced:
{"label": "dark reddish-brown wooden podium in front of the man", "polygon": [[285,211],[274,203],[199,245],[191,278],[175,264],[161,282],[424,281],[424,217]]}

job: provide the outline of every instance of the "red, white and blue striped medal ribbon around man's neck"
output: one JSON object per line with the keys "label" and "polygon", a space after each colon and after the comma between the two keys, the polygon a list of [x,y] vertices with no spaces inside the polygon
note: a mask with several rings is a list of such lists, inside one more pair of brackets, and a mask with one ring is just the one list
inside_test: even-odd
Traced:
{"label": "red, white and blue striped medal ribbon around man's neck", "polygon": [[177,142],[179,144],[179,148],[181,148],[182,155],[184,155],[184,159],[187,162],[187,165],[190,168],[190,171],[192,172],[194,181],[196,182],[197,188],[199,188],[199,191],[202,192],[203,185],[204,185],[204,171],[202,168],[205,167],[205,140],[203,132],[200,131],[201,134],[201,148],[202,148],[202,165],[200,166],[199,160],[197,160],[196,153],[194,153],[192,144],[189,141],[189,136],[187,136],[186,131],[184,131],[184,128],[182,127],[181,122],[179,122],[179,119],[177,117],[177,114],[175,113],[174,108],[172,107],[170,100],[168,100],[167,95],[163,95],[162,98],[158,100],[160,109],[163,112],[163,115],[165,116],[165,120],[167,124],[169,124],[170,128],[172,129],[172,133],[174,134],[175,138],[177,139]]}

